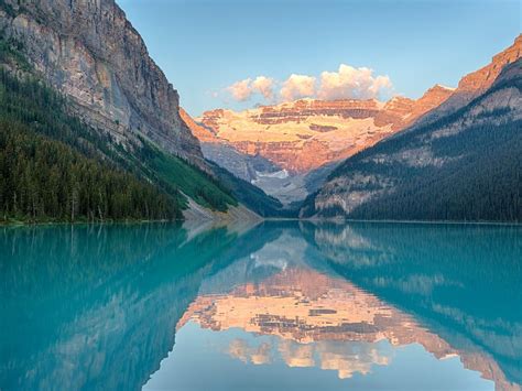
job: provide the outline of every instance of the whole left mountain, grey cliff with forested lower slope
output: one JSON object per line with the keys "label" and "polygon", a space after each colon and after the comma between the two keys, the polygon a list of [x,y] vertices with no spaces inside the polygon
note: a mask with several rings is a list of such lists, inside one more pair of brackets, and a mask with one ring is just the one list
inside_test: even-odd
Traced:
{"label": "whole left mountain, grey cliff with forested lower slope", "polygon": [[1,220],[253,218],[112,0],[0,1]]}

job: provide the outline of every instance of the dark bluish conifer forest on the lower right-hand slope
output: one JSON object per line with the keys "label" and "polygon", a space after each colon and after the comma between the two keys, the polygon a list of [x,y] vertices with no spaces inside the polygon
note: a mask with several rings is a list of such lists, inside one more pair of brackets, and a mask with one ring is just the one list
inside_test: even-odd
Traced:
{"label": "dark bluish conifer forest on the lower right-hand slope", "polygon": [[522,220],[521,129],[522,121],[478,126],[450,141],[438,139],[434,151],[453,155],[455,162],[443,167],[396,167],[398,191],[361,205],[351,217]]}

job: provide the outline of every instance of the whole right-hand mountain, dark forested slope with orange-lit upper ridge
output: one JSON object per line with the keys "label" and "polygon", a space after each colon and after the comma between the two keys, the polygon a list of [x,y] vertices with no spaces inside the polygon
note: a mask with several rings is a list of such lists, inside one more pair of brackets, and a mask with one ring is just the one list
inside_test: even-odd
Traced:
{"label": "whole right-hand mountain, dark forested slope with orange-lit upper ridge", "polygon": [[301,216],[520,221],[521,44],[463,78],[450,110],[346,160]]}

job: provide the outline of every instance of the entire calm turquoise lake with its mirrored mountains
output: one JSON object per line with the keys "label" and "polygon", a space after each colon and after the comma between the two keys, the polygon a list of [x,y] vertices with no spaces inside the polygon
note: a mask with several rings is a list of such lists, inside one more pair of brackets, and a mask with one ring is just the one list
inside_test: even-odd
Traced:
{"label": "entire calm turquoise lake with its mirrored mountains", "polygon": [[520,390],[522,228],[2,228],[1,390]]}

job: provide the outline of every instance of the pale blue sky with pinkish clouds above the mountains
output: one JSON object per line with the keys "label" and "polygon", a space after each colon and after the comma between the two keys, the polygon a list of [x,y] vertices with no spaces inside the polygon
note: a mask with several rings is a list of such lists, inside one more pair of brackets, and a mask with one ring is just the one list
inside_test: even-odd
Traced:
{"label": "pale blue sky with pinkish clouds above the mountains", "polygon": [[521,32],[522,0],[117,0],[193,116],[456,87]]}

